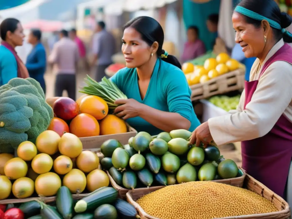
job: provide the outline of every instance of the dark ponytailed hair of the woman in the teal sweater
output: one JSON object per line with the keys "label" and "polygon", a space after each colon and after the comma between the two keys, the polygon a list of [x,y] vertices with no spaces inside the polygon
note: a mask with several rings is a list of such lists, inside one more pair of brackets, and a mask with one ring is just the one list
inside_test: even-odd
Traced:
{"label": "dark ponytailed hair of the woman in the teal sweater", "polygon": [[[124,25],[124,29],[132,27],[136,31],[138,31],[142,39],[149,45],[152,46],[152,44],[156,41],[158,42],[158,50],[157,50],[157,56],[160,57],[165,53],[165,51],[162,49],[163,41],[164,41],[164,32],[157,20],[154,18],[150,18],[147,16],[141,16],[134,18],[130,20],[128,23]],[[177,58],[173,55],[168,55],[167,58],[161,58],[163,61],[168,62],[172,65],[175,65],[176,67],[179,67],[181,69],[180,62]]]}

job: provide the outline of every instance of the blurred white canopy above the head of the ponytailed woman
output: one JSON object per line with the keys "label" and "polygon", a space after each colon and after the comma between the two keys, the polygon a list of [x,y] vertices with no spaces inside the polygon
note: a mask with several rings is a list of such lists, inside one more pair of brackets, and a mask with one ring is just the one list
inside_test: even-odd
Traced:
{"label": "blurred white canopy above the head of the ponytailed woman", "polygon": [[116,0],[105,6],[104,13],[110,15],[121,15],[123,11],[134,12],[141,9],[151,10],[163,7],[166,4],[171,4],[175,1],[177,0]]}

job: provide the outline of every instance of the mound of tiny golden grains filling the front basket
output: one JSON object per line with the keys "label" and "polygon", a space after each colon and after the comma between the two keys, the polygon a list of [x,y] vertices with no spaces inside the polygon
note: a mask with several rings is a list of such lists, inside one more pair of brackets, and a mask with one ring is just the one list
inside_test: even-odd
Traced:
{"label": "mound of tiny golden grains filling the front basket", "polygon": [[[214,182],[167,186],[137,200],[143,210],[160,219],[211,219],[277,212],[255,192]],[[251,218],[251,217],[248,217]]]}

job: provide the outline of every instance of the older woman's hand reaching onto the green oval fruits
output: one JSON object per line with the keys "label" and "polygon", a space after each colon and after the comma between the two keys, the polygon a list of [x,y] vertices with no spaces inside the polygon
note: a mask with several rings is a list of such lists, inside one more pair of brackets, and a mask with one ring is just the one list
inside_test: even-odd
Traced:
{"label": "older woman's hand reaching onto the green oval fruits", "polygon": [[190,144],[196,143],[196,146],[199,147],[201,142],[204,144],[209,144],[213,140],[212,135],[210,133],[208,121],[199,125],[195,131],[193,131]]}

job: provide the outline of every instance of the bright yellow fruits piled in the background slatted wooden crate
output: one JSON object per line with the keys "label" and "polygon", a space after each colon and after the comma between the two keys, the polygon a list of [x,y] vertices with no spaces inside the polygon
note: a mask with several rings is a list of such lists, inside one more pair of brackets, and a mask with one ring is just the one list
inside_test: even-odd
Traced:
{"label": "bright yellow fruits piled in the background slatted wooden crate", "polygon": [[240,63],[231,59],[228,54],[220,53],[216,58],[208,58],[204,66],[195,66],[190,62],[182,65],[182,70],[189,85],[205,83],[222,74],[232,72],[240,67]]}

